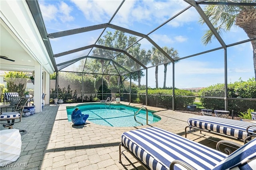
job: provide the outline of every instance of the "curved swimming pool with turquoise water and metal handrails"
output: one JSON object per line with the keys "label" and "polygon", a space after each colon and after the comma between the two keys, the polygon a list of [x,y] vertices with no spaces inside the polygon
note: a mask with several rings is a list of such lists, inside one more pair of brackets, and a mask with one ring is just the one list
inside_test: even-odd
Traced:
{"label": "curved swimming pool with turquoise water and metal handrails", "polygon": [[[127,106],[123,104],[105,105],[100,103],[81,104],[77,106],[67,106],[68,121],[71,122],[72,111],[78,107],[83,114],[88,114],[87,120],[98,125],[112,127],[133,127],[141,126],[134,120],[134,113],[138,111],[137,107]],[[160,121],[160,117],[153,114],[153,111],[148,110],[148,124]],[[136,120],[146,125],[146,111],[141,110],[136,114]]]}

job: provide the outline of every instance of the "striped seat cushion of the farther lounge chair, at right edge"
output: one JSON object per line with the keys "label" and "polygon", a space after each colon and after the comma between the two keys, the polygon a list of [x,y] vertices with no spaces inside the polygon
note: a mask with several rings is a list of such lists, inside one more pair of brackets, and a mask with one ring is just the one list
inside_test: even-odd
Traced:
{"label": "striped seat cushion of the farther lounge chair, at right edge", "polygon": [[[221,117],[199,116],[189,118],[188,125],[190,125],[190,127],[207,129],[244,140],[247,136],[249,136],[249,134],[246,132],[246,128],[255,124]],[[248,129],[249,133],[251,134],[254,134],[253,131],[255,130],[256,127],[251,127]]]}

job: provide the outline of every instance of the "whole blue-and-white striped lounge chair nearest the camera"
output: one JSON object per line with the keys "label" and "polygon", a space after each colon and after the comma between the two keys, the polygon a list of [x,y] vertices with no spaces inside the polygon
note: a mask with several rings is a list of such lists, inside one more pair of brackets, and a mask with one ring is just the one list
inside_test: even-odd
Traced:
{"label": "whole blue-and-white striped lounge chair nearest the camera", "polygon": [[121,155],[127,158],[125,150],[121,151],[123,146],[145,169],[256,169],[256,139],[226,155],[158,127],[128,131],[121,138],[119,162],[122,163]]}

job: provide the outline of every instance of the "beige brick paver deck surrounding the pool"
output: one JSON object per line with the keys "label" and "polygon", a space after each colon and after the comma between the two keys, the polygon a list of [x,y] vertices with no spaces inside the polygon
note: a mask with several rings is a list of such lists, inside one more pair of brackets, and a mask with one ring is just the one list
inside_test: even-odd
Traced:
{"label": "beige brick paver deck surrounding the pool", "polygon": [[[72,122],[68,122],[66,113],[66,106],[71,105],[74,104],[46,105],[42,109],[42,113],[22,117],[22,121],[14,125],[14,128],[25,129],[28,132],[21,137],[22,151],[20,158],[14,162],[16,164],[26,164],[26,167],[20,167],[19,169],[133,169],[125,158],[122,158],[123,165],[118,162],[118,146],[121,134],[136,128],[107,127],[96,125],[89,121],[84,126],[72,126]],[[138,104],[130,105],[138,106]],[[155,107],[148,107],[148,109],[158,111],[156,114],[162,117],[161,121],[153,123],[152,126],[183,136],[184,128],[188,125],[187,119],[198,116]],[[140,126],[138,128],[142,127],[148,126]],[[1,127],[0,129],[3,130],[5,128]],[[198,136],[202,136],[199,132],[194,134],[188,133],[188,138],[213,148],[216,143],[205,138],[220,138],[219,136],[210,136],[210,134],[205,134],[204,138],[202,138]],[[223,137],[220,139],[223,139]],[[126,155],[131,158],[131,161],[134,162],[138,169],[143,169],[136,159],[129,154]],[[1,167],[1,170],[7,169],[17,170],[17,167]]]}

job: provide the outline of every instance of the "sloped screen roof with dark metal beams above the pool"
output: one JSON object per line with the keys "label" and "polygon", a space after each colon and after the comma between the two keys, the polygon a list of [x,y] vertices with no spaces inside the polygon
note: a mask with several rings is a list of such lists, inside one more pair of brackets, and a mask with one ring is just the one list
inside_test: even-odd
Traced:
{"label": "sloped screen roof with dark metal beams above the pool", "polygon": [[[46,47],[55,61],[56,71],[113,75],[225,49],[238,41],[250,41],[246,33],[237,39],[219,34],[222,21],[211,23],[204,10],[218,5],[223,9],[244,6],[255,11],[254,0],[39,0],[27,3],[43,39],[48,40]],[[227,15],[227,19],[236,18],[239,12],[235,11]],[[214,38],[203,45],[202,37],[207,30]],[[255,41],[255,32],[249,38]]]}

